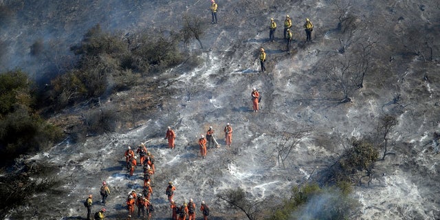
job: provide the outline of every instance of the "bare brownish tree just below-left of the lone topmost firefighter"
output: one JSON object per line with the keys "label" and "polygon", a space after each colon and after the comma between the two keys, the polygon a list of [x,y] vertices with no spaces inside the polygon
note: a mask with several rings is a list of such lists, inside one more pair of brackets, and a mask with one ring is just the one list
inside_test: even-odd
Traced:
{"label": "bare brownish tree just below-left of the lone topmost firefighter", "polygon": [[184,14],[183,21],[184,28],[181,29],[181,34],[183,36],[184,44],[188,45],[191,39],[196,39],[199,41],[201,49],[203,49],[203,45],[200,41],[200,37],[203,35],[201,19],[194,15]]}

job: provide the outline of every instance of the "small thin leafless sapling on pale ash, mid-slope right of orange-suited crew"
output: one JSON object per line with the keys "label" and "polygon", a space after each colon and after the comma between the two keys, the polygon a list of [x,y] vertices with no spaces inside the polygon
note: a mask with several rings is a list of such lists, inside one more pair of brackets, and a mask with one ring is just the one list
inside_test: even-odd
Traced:
{"label": "small thin leafless sapling on pale ash, mid-slope right of orange-suited crew", "polygon": [[285,161],[289,158],[290,153],[302,139],[303,136],[309,131],[298,131],[296,133],[289,133],[287,131],[283,132],[278,144],[276,146],[276,151],[278,153],[278,165],[285,167]]}

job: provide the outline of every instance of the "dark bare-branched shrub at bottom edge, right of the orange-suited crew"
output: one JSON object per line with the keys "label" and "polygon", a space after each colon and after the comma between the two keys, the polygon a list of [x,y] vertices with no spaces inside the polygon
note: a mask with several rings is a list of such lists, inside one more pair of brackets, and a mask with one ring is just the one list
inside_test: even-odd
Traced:
{"label": "dark bare-branched shrub at bottom edge, right of the orange-suited crew", "polygon": [[217,197],[244,212],[249,220],[257,219],[260,205],[263,203],[263,201],[250,201],[250,199],[247,199],[242,188],[229,189],[223,194],[217,195]]}

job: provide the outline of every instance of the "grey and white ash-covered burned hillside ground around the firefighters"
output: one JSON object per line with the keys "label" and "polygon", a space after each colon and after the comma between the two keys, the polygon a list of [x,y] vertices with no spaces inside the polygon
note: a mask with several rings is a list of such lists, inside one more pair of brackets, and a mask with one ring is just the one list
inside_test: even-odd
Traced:
{"label": "grey and white ash-covered burned hillside ground around the firefighters", "polygon": [[[6,219],[85,217],[83,201],[89,193],[98,201],[102,181],[107,181],[111,189],[105,206],[108,218],[126,217],[126,195],[133,189],[142,189],[142,171],[137,168],[135,176],[127,177],[123,154],[126,146],[147,140],[148,151],[155,155],[156,162],[152,199],[155,219],[170,217],[165,195],[168,181],[177,188],[175,201],[179,204],[190,198],[197,205],[204,200],[210,206],[210,219],[246,219],[215,195],[241,187],[256,201],[266,197],[281,201],[289,197],[286,189],[324,173],[344,150],[344,140],[374,136],[379,118],[387,114],[398,120],[388,134],[388,153],[393,154],[375,163],[370,184],[354,186],[353,197],[361,203],[355,218],[439,218],[439,148],[435,135],[440,123],[438,2],[217,2],[217,24],[210,24],[207,0],[97,1],[87,5],[87,9],[81,1],[72,2],[76,10],[71,17],[85,14],[87,19],[68,19],[65,31],[61,31],[65,35],[54,30],[54,36],[48,39],[65,36],[69,41],[80,41],[79,28],[96,23],[124,32],[175,30],[181,26],[182,14],[197,14],[206,22],[201,38],[205,48],[200,50],[194,42],[189,50],[197,54],[201,63],[190,71],[181,65],[152,76],[150,80],[157,82],[157,89],[173,91],[173,95],[162,97],[162,104],[144,115],[130,131],[88,137],[82,144],[69,144],[66,140],[30,157],[30,161],[58,166],[56,178],[63,184],[53,192],[34,195],[29,206],[10,210]],[[23,10],[32,11],[29,4]],[[39,28],[46,30],[52,23],[59,24],[58,17],[50,14],[62,12],[56,10],[56,3],[48,5],[44,10],[40,7],[41,13],[35,13],[47,22],[37,27],[14,23],[17,31],[30,33],[23,34],[25,39],[32,39],[31,34]],[[91,12],[96,16],[92,17]],[[17,12],[14,18],[25,13],[30,12]],[[282,39],[285,14],[294,23],[291,54],[285,52]],[[276,42],[267,41],[271,17],[278,25]],[[306,17],[315,26],[313,43],[304,42]],[[338,28],[340,19],[342,27]],[[20,42],[12,36],[17,33],[3,35],[2,40]],[[334,69],[352,61],[369,43],[370,66],[363,87],[351,89],[351,102],[341,102],[345,90],[332,77]],[[260,47],[267,52],[265,73],[259,72]],[[15,50],[8,52],[12,51]],[[353,59],[356,61],[359,60]],[[258,113],[252,112],[252,87],[263,96]],[[135,99],[134,91],[113,94],[102,101],[101,107],[111,108],[122,100]],[[234,129],[230,147],[223,140],[223,128],[228,122]],[[174,150],[166,148],[167,126],[177,134]],[[197,140],[209,126],[216,131],[221,147],[208,148],[206,159],[202,159]],[[283,167],[278,163],[277,147],[286,131],[302,135]],[[96,204],[94,210],[101,207]],[[197,217],[201,217],[200,212]]]}

